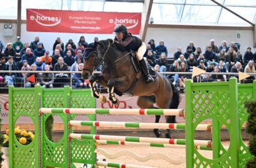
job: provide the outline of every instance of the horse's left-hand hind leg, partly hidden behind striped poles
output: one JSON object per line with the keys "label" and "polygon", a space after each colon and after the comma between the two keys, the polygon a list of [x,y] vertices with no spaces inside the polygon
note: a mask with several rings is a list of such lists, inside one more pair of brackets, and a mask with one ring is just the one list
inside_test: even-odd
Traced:
{"label": "horse's left-hand hind leg, partly hidden behind striped poles", "polygon": [[[137,105],[140,108],[156,108],[154,107],[154,103],[155,103],[155,96],[139,96],[138,100],[137,100]],[[160,120],[160,116],[155,116],[155,123],[159,123]],[[159,129],[154,129],[153,130],[155,136],[157,138],[162,137],[162,135],[159,133]]]}

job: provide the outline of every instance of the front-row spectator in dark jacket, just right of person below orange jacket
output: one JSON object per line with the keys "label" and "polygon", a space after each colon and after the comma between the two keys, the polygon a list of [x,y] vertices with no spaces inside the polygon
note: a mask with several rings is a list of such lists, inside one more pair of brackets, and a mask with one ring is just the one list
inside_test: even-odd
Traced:
{"label": "front-row spectator in dark jacket, just right of person below orange jacket", "polygon": [[[58,62],[54,65],[54,71],[68,71],[69,67],[64,63],[62,57],[59,57]],[[56,86],[68,85],[69,84],[69,74],[68,73],[57,73],[55,75],[54,83]]]}

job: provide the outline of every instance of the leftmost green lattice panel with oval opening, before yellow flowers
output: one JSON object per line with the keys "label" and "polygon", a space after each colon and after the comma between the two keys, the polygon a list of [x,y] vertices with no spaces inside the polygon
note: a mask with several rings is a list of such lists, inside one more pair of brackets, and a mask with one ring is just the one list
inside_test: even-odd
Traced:
{"label": "leftmost green lattice panel with oval opening, before yellow flowers", "polygon": [[[38,87],[26,90],[9,87],[9,167],[34,168],[39,166],[38,89]],[[14,134],[14,124],[21,116],[31,118],[34,124],[35,138],[28,145],[20,144]]]}

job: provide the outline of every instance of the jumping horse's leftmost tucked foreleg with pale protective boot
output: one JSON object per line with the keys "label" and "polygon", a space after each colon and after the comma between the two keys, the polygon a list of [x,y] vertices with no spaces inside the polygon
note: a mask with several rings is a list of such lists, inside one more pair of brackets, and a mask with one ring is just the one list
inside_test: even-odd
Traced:
{"label": "jumping horse's leftmost tucked foreleg with pale protective boot", "polygon": [[90,77],[90,83],[91,83],[91,90],[92,90],[92,96],[97,98],[101,103],[106,103],[106,97],[102,96],[101,93],[99,93],[99,90],[96,87],[96,81],[97,80],[102,80],[102,76],[99,75],[91,75]]}

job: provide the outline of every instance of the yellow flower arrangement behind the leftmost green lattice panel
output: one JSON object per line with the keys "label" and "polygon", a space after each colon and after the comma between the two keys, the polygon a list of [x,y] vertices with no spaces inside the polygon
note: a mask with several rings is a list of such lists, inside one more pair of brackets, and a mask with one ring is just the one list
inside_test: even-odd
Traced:
{"label": "yellow flower arrangement behind the leftmost green lattice panel", "polygon": [[[14,129],[14,133],[17,141],[23,145],[30,144],[35,137],[31,131],[27,132],[25,129],[21,129],[19,126]],[[2,142],[2,146],[9,147],[9,129],[7,129],[6,134],[4,134],[4,141]]]}

